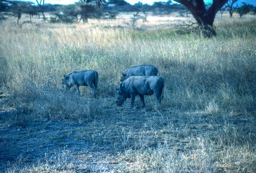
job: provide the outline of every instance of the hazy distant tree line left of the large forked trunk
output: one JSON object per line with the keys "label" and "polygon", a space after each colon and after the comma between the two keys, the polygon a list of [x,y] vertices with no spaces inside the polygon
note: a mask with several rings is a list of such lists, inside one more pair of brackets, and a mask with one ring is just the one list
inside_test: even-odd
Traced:
{"label": "hazy distant tree line left of the large forked trunk", "polygon": [[[138,2],[134,5],[125,0],[78,0],[74,4],[44,4],[44,0],[37,0],[37,4],[21,0],[0,0],[0,20],[8,16],[17,18],[17,23],[22,14],[29,14],[31,18],[36,15],[44,16],[44,12],[51,12],[53,16],[51,22],[80,22],[86,23],[88,18],[115,18],[118,12],[153,12],[153,14],[170,14],[171,12],[180,12],[183,15],[188,10],[183,5],[172,4],[171,0],[167,2],[154,2],[153,5],[142,4]],[[5,14],[5,15],[3,15]],[[5,17],[4,17],[5,16]]]}

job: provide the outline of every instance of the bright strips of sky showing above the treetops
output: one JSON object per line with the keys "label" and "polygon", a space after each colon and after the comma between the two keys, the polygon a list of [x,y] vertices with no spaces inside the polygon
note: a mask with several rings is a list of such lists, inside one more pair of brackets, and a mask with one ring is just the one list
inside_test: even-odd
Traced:
{"label": "bright strips of sky showing above the treetops", "polygon": [[[31,2],[34,2],[35,4],[36,3],[36,0],[23,0],[23,1],[31,1]],[[40,1],[40,0],[39,0]],[[44,0],[44,3],[51,3],[51,4],[73,4],[74,2],[78,2],[79,0]],[[142,2],[142,3],[147,3],[149,5],[152,5],[154,2],[157,2],[157,1],[167,1],[167,0],[125,0],[127,1],[128,3],[130,4],[135,4],[137,2]],[[254,6],[256,6],[256,0],[239,0],[240,3],[241,2],[245,2],[247,4],[253,4]],[[172,0],[172,2],[175,2]],[[204,0],[205,3],[212,3],[213,0]]]}

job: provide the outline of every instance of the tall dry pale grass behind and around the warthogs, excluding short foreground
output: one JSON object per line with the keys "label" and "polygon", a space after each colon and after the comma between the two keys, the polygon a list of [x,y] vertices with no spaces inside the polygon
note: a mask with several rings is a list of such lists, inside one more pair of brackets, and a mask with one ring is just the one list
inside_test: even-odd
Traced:
{"label": "tall dry pale grass behind and around the warthogs, excluding short foreground", "polygon": [[[105,27],[105,23],[20,28],[2,23],[0,85],[14,102],[26,105],[19,109],[40,117],[48,112],[60,117],[71,99],[62,99],[63,74],[96,70],[98,99],[114,98],[121,72],[131,65],[152,64],[165,79],[164,107],[255,112],[255,20],[224,20],[215,25],[217,37],[204,39],[175,28],[140,31]],[[83,92],[91,98],[89,88]],[[42,109],[38,110],[38,102]],[[76,104],[76,110],[79,105],[84,103]]]}

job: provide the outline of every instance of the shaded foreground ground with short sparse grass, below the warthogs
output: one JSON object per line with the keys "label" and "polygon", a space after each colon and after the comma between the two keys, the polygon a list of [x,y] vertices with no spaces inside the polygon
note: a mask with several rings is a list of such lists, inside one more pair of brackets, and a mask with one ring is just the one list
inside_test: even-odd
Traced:
{"label": "shaded foreground ground with short sparse grass, below the warthogs", "polygon": [[91,121],[15,120],[17,112],[2,107],[0,172],[160,173],[185,161],[200,170],[207,164],[213,172],[237,170],[235,163],[252,167],[250,154],[230,161],[225,148],[255,138],[254,115],[157,111],[142,109],[138,100],[135,108],[128,105],[105,107]]}

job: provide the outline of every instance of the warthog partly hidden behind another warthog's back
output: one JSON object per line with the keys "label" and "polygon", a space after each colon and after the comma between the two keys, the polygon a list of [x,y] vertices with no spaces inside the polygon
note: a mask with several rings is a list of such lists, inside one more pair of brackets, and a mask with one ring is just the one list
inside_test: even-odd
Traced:
{"label": "warthog partly hidden behind another warthog's back", "polygon": [[130,76],[153,76],[157,75],[157,73],[160,75],[158,69],[153,65],[131,66],[125,73],[123,72],[120,81],[123,82]]}

